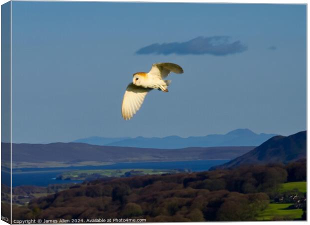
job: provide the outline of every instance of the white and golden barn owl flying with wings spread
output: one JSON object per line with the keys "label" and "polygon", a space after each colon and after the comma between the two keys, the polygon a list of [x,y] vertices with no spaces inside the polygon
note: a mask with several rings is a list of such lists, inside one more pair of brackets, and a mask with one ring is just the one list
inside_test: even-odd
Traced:
{"label": "white and golden barn owl flying with wings spread", "polygon": [[130,119],[141,107],[144,97],[152,89],[168,92],[171,80],[164,80],[170,72],[183,73],[181,66],[161,62],[154,63],[149,72],[136,72],[132,82],[128,84],[121,104],[121,115],[125,120]]}

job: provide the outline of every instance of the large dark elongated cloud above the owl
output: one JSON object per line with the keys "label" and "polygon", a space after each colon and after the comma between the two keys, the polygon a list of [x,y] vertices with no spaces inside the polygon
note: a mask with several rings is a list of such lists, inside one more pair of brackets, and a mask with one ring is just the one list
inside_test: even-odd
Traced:
{"label": "large dark elongated cloud above the owl", "polygon": [[230,41],[229,36],[196,37],[185,42],[154,43],[142,47],[137,54],[212,54],[217,56],[240,53],[247,46],[239,40]]}

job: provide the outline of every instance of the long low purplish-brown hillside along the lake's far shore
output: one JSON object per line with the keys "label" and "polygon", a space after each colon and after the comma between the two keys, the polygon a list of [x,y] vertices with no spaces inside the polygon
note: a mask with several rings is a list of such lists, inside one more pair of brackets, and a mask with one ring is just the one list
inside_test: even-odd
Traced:
{"label": "long low purplish-brown hillside along the lake's far shore", "polygon": [[[5,147],[8,143],[2,143]],[[241,147],[189,147],[181,149],[155,149],[136,147],[100,146],[86,143],[12,144],[13,163],[28,162],[30,165],[47,162],[82,163],[139,162],[139,161],[184,161],[206,159],[231,159],[249,150]],[[6,158],[9,151],[2,151]],[[24,163],[25,164],[25,163]]]}

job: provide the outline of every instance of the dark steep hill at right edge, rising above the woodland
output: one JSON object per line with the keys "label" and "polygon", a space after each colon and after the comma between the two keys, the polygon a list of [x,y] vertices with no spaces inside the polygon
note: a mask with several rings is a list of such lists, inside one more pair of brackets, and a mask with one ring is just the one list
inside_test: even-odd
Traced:
{"label": "dark steep hill at right edge, rising above the woodland", "polygon": [[210,169],[232,168],[244,164],[288,163],[306,157],[306,131],[274,136],[253,150]]}

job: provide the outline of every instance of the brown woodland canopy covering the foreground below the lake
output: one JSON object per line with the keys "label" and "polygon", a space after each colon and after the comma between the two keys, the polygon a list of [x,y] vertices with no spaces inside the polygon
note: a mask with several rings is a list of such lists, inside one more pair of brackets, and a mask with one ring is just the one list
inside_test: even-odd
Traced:
{"label": "brown woodland canopy covering the foreground below the lake", "polygon": [[214,171],[94,180],[32,200],[17,218],[255,220],[285,181],[306,179],[306,161]]}

